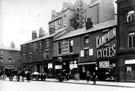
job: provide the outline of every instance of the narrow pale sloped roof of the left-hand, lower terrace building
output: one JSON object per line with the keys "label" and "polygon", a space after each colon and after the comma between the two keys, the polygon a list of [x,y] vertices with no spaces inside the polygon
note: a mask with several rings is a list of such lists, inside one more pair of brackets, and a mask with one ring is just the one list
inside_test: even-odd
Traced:
{"label": "narrow pale sloped roof of the left-hand, lower terrace building", "polygon": [[46,34],[45,36],[43,36],[43,37],[38,37],[38,38],[36,38],[36,39],[27,41],[27,42],[25,42],[25,43],[23,43],[23,44],[21,44],[21,45],[25,45],[25,44],[28,44],[28,43],[40,41],[40,40],[42,40],[42,39],[46,39],[46,38],[53,37],[54,35],[56,35],[56,34],[62,32],[64,29],[65,29],[65,28],[59,29],[59,30],[57,30],[54,34],[51,34],[51,35],[50,35],[49,33],[47,33],[47,34]]}

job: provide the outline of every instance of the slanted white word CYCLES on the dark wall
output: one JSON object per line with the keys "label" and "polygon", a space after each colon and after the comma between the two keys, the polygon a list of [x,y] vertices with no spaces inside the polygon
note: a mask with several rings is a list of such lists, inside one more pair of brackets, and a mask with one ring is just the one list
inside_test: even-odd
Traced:
{"label": "slanted white word CYCLES on the dark wall", "polygon": [[116,45],[97,49],[97,58],[114,57],[116,55]]}

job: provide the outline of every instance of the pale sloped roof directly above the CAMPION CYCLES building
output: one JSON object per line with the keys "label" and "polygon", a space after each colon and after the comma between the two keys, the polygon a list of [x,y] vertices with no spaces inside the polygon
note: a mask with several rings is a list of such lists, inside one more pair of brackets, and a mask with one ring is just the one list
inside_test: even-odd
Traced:
{"label": "pale sloped roof directly above the CAMPION CYCLES building", "polygon": [[94,32],[94,31],[99,31],[101,29],[109,28],[109,27],[116,26],[116,25],[117,25],[117,20],[110,20],[110,21],[107,21],[107,22],[104,22],[104,23],[96,24],[88,30],[86,30],[86,28],[74,30],[74,31],[69,32],[68,34],[66,34],[66,35],[64,35],[64,36],[62,36],[62,37],[60,37],[56,40],[61,40],[61,39],[70,38],[70,37]]}

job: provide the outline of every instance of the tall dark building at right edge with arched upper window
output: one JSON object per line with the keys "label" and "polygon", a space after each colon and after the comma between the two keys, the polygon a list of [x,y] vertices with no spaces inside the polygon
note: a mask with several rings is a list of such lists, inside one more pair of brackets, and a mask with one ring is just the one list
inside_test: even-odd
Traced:
{"label": "tall dark building at right edge with arched upper window", "polygon": [[135,1],[117,0],[119,81],[135,80]]}

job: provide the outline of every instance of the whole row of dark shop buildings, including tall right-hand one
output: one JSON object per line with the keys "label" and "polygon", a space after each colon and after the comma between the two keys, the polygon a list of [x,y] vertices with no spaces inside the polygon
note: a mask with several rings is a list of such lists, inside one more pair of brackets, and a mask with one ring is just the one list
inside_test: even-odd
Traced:
{"label": "whole row of dark shop buildings, including tall right-hand one", "polygon": [[[125,9],[124,5],[130,1],[132,7]],[[64,71],[73,78],[86,79],[90,71],[96,72],[101,81],[134,81],[135,24],[129,22],[129,17],[135,17],[135,3],[130,1],[117,1],[118,19],[94,25],[86,21],[86,27],[77,30],[64,27],[22,44],[23,68],[45,71],[48,77]]]}

